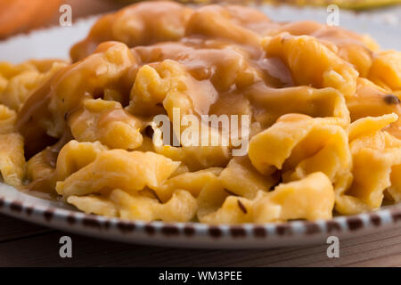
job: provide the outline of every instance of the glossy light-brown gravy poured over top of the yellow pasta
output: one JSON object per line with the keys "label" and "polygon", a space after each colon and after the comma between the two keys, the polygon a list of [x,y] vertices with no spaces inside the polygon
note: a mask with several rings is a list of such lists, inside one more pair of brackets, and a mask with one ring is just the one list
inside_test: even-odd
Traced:
{"label": "glossy light-brown gravy poured over top of the yellow pasta", "polygon": [[[122,32],[119,37],[114,35],[111,29],[115,21],[127,15],[140,23],[137,30],[131,31],[132,34]],[[169,34],[159,30],[163,27]],[[85,98],[102,98],[105,87],[124,85],[119,92],[125,93],[123,97],[127,101],[129,89],[135,82],[135,70],[144,64],[165,60],[182,64],[196,83],[188,88],[193,108],[199,114],[209,113],[210,107],[220,100],[220,94],[241,94],[252,85],[260,84],[268,88],[291,87],[294,85],[291,71],[279,58],[266,58],[259,45],[262,37],[283,31],[292,35],[312,35],[333,45],[344,46],[349,42],[364,45],[360,37],[340,28],[325,28],[309,21],[272,23],[261,12],[237,6],[210,5],[193,11],[180,4],[159,2],[136,4],[107,15],[95,24],[83,42],[71,49],[73,61],[80,61],[61,69],[40,86],[20,110],[17,128],[25,139],[26,159],[45,150],[46,163],[54,168],[61,147],[72,139],[67,123],[62,134],[55,134],[55,137],[49,134],[54,118],[63,116],[66,120],[78,111]],[[95,77],[91,77],[91,86],[86,88],[89,83],[79,81],[83,85],[79,90],[86,92],[71,94],[74,102],[66,110],[52,111],[49,104],[57,96],[63,77],[71,72],[84,72],[87,66],[86,69],[81,67],[86,64],[85,57],[94,52],[99,43],[109,40],[123,41],[132,48],[135,59],[140,61],[137,66],[134,64],[135,69],[130,69],[132,72],[127,69],[118,85],[96,86]],[[121,103],[127,105],[127,102]],[[104,120],[125,120],[127,116],[130,115],[125,110],[113,110]],[[50,189],[53,185],[53,177],[49,177],[29,183],[27,189]]]}

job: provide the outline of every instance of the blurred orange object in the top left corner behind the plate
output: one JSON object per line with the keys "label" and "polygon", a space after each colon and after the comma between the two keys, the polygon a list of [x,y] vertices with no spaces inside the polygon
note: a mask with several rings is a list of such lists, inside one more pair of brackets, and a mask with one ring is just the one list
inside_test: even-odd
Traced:
{"label": "blurred orange object in the top left corner behind the plate", "polygon": [[45,25],[56,17],[61,0],[0,0],[0,38]]}

